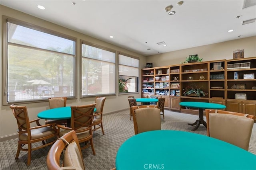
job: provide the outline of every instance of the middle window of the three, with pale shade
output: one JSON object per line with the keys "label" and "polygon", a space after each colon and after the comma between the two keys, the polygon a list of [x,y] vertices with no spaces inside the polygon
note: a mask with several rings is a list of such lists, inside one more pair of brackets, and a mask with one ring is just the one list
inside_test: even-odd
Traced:
{"label": "middle window of the three, with pale shade", "polygon": [[115,94],[116,53],[82,42],[82,96]]}

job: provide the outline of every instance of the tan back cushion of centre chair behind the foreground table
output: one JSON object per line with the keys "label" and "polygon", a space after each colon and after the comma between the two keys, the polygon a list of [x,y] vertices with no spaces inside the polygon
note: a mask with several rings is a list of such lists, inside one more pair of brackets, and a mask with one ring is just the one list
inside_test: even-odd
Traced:
{"label": "tan back cushion of centre chair behind the foreground table", "polygon": [[160,109],[146,107],[135,110],[138,133],[161,130]]}

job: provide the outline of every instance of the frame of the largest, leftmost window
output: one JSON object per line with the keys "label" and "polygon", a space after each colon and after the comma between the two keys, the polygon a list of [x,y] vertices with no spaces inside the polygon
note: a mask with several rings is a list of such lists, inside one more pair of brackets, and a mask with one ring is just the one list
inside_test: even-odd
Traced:
{"label": "frame of the largest, leftmost window", "polygon": [[[21,21],[21,20],[17,20],[15,18],[11,18],[8,16],[2,16],[2,28],[3,28],[3,37],[2,37],[2,42],[3,42],[3,57],[2,57],[2,105],[3,106],[7,106],[10,104],[28,104],[28,103],[37,103],[37,102],[45,102],[48,101],[48,98],[42,98],[42,99],[34,99],[34,100],[22,100],[22,101],[13,101],[13,102],[8,102],[8,70],[7,70],[7,66],[8,66],[8,22],[14,23],[16,25],[20,25],[23,27],[27,27],[30,29],[34,29],[36,31],[40,31],[40,32],[44,32],[47,34],[51,34],[57,37],[61,37],[64,39],[69,39],[71,41],[74,41],[75,45],[74,45],[74,87],[73,87],[73,96],[68,96],[68,98],[77,98],[77,69],[76,69],[76,65],[77,65],[77,38],[76,37],[72,37],[70,35],[66,35],[63,33],[59,33],[56,31],[53,31],[51,29],[47,29],[38,25],[34,25],[32,23],[28,23],[26,21]],[[22,46],[21,46],[22,47]],[[28,46],[29,47],[29,46]],[[40,50],[40,49],[38,49]],[[61,53],[61,52],[59,52]],[[69,54],[71,55],[71,54]]]}

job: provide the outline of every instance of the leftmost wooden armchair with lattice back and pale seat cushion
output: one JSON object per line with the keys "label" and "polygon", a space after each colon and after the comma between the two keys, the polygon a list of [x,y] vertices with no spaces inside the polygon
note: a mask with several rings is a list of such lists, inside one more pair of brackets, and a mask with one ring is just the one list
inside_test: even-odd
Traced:
{"label": "leftmost wooden armchair with lattice back and pale seat cushion", "polygon": [[[30,121],[26,106],[11,105],[10,108],[12,109],[12,113],[16,118],[18,125],[18,149],[15,159],[18,159],[20,150],[27,151],[27,166],[30,166],[31,151],[52,145],[55,142],[55,139],[51,142],[49,142],[50,140],[48,139],[56,137],[56,130],[52,129],[50,124],[40,125],[39,119]],[[30,124],[33,122],[36,122],[37,126],[31,127]],[[44,140],[48,140],[48,143],[45,143]],[[43,145],[33,148],[32,143],[36,142],[42,142]],[[24,148],[25,145],[28,145],[27,148]]]}

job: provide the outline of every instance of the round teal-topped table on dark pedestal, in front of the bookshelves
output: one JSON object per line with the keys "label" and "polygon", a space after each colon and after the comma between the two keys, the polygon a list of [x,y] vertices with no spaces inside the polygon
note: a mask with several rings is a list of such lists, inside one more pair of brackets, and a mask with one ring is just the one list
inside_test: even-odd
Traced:
{"label": "round teal-topped table on dark pedestal, in front of the bookshelves", "polygon": [[180,106],[185,107],[193,107],[198,108],[199,111],[199,119],[197,119],[194,123],[188,123],[188,125],[196,125],[192,131],[198,129],[200,124],[203,124],[207,127],[206,121],[204,121],[204,109],[225,109],[226,106],[222,104],[215,104],[215,103],[206,103],[206,102],[180,102]]}

